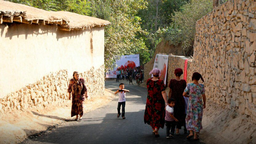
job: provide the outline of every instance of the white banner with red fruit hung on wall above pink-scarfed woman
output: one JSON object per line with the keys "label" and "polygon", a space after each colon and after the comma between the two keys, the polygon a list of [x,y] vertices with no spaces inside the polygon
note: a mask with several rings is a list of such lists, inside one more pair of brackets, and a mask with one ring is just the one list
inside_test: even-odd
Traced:
{"label": "white banner with red fruit hung on wall above pink-scarfed woman", "polygon": [[[154,62],[154,68],[158,68],[161,71],[160,79],[166,84],[167,66],[169,55],[157,54]],[[153,74],[152,74],[153,77]]]}

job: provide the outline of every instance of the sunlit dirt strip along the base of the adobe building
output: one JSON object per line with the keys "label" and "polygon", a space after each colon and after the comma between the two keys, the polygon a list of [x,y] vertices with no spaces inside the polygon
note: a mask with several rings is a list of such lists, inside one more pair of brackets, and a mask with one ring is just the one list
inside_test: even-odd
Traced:
{"label": "sunlit dirt strip along the base of the adobe building", "polygon": [[[113,92],[105,89],[104,96],[86,99],[83,105],[84,113],[106,105],[112,98]],[[70,118],[70,110],[71,101],[66,103],[66,107],[48,106],[43,110],[14,110],[0,120],[0,143],[19,143],[31,135],[40,135],[40,132],[53,126],[74,120],[75,117]]]}

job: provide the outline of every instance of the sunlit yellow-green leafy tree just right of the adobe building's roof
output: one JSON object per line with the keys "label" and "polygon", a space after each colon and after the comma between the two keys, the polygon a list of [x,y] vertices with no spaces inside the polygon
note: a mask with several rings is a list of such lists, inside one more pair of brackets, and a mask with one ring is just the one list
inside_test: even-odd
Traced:
{"label": "sunlit yellow-green leafy tree just right of the adobe building's roof", "polygon": [[145,31],[140,26],[138,10],[146,8],[144,0],[89,0],[92,16],[111,22],[105,28],[105,68],[115,67],[120,55],[140,54],[141,62],[149,59],[147,47],[138,34]]}

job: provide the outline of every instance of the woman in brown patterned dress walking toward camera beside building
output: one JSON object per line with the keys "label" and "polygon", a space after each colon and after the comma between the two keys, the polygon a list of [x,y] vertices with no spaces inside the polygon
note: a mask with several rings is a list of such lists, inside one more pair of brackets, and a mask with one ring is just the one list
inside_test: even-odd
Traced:
{"label": "woman in brown patterned dress walking toward camera beside building", "polygon": [[85,82],[83,78],[79,78],[79,74],[77,71],[74,71],[73,78],[70,79],[68,86],[69,100],[70,93],[72,93],[72,107],[71,107],[71,117],[76,115],[75,121],[78,119],[78,115],[80,115],[79,120],[82,120],[83,116],[83,102],[84,97],[87,98],[87,89],[85,86]]}

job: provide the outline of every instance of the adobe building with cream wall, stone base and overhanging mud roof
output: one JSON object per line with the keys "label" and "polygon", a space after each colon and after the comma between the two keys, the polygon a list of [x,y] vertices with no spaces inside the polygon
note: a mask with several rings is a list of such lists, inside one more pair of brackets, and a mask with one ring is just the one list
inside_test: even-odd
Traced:
{"label": "adobe building with cream wall, stone base and overhanging mud roof", "polygon": [[61,106],[73,71],[85,79],[90,97],[104,94],[104,27],[109,24],[0,0],[0,114]]}

